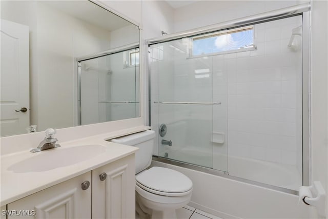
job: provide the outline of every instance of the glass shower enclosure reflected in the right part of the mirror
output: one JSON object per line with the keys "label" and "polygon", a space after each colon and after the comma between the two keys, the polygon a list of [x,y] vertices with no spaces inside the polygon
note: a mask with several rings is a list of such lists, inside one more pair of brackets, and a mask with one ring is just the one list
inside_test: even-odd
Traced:
{"label": "glass shower enclosure reflected in the right part of the mirror", "polygon": [[78,58],[78,125],[140,116],[139,45]]}

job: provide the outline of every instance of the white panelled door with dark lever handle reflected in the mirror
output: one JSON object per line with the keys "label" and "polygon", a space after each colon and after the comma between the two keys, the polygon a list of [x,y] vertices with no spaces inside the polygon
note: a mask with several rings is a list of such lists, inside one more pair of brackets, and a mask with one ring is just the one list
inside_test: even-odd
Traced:
{"label": "white panelled door with dark lever handle reflected in the mirror", "polygon": [[[29,27],[4,19],[0,80],[0,136],[26,133],[25,128],[30,125]],[[22,108],[27,111],[19,111]]]}

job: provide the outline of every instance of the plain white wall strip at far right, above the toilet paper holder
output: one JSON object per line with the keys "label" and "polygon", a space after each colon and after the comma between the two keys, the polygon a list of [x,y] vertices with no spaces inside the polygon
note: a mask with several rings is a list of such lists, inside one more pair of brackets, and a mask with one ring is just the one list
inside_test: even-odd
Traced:
{"label": "plain white wall strip at far right, above the toilet paper holder", "polygon": [[[312,51],[311,51],[311,171],[312,180],[320,181],[328,194],[328,4],[327,1],[312,2]],[[314,214],[314,217],[317,217]],[[326,218],[328,202],[326,201]]]}

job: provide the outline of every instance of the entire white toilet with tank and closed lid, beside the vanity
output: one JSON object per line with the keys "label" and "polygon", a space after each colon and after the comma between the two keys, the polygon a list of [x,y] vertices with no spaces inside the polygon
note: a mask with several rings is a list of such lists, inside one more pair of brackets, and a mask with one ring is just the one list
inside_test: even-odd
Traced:
{"label": "entire white toilet with tank and closed lid, beside the vanity", "polygon": [[140,217],[176,218],[176,209],[190,202],[193,184],[186,175],[163,167],[150,166],[155,132],[147,130],[111,140],[138,147],[136,165],[136,211]]}

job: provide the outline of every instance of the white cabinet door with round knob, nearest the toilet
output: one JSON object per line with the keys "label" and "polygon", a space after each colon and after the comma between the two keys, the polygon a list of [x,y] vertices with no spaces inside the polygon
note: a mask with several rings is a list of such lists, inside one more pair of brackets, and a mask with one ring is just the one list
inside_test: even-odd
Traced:
{"label": "white cabinet door with round knob, nearest the toilet", "polygon": [[135,218],[134,154],[92,171],[92,218]]}

